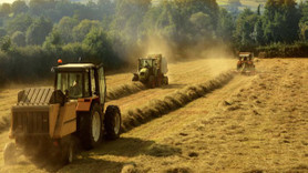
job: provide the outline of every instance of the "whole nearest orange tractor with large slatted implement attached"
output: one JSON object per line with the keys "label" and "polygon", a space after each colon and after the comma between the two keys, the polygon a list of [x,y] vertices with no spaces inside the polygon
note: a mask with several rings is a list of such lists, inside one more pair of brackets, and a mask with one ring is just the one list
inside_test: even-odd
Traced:
{"label": "whole nearest orange tractor with large slatted implement attached", "polygon": [[[69,63],[53,68],[54,88],[30,88],[18,93],[12,106],[10,139],[3,151],[6,164],[16,153],[32,150],[70,163],[75,143],[85,150],[97,146],[103,136],[115,140],[121,132],[121,112],[109,105],[104,112],[104,69],[92,63]],[[19,152],[17,152],[19,151]]]}

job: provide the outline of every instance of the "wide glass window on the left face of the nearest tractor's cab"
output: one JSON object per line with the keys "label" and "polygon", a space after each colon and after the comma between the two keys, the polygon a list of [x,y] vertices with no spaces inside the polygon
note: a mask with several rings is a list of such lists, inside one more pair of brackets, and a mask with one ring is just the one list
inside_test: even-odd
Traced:
{"label": "wide glass window on the left face of the nearest tractor's cab", "polygon": [[[86,78],[86,79],[89,80],[89,78]],[[86,82],[86,79],[83,79],[83,73],[61,72],[61,73],[58,73],[55,86],[57,86],[57,90],[61,90],[70,99],[83,98],[83,95],[84,95],[83,94],[84,93],[84,84],[83,83]]]}

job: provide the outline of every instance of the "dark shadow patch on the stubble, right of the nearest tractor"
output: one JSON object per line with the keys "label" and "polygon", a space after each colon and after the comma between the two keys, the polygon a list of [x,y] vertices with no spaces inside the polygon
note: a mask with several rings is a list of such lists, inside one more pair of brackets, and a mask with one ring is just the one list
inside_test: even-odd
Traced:
{"label": "dark shadow patch on the stubble, right of the nearest tractor", "polygon": [[[135,138],[121,138],[116,141],[105,141],[100,147],[93,150],[93,152],[95,155],[152,155],[157,157],[172,156],[182,153],[181,149]],[[85,154],[91,155],[91,152]]]}

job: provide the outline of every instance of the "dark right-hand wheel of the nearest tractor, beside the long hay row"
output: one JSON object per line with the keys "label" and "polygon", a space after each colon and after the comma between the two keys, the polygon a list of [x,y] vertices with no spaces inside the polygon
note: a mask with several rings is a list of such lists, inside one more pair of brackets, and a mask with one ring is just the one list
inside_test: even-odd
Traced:
{"label": "dark right-hand wheel of the nearest tractor, beside the long hay row", "polygon": [[105,112],[104,125],[106,130],[106,139],[115,140],[121,133],[121,112],[116,105],[109,105]]}

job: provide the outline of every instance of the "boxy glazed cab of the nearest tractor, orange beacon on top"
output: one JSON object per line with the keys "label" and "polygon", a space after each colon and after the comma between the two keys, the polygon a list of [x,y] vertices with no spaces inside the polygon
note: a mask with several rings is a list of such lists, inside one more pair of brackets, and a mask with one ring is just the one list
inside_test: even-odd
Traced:
{"label": "boxy glazed cab of the nearest tractor, orange beacon on top", "polygon": [[61,90],[70,100],[97,99],[105,101],[105,78],[102,65],[92,63],[68,63],[53,68],[55,72],[54,88]]}

